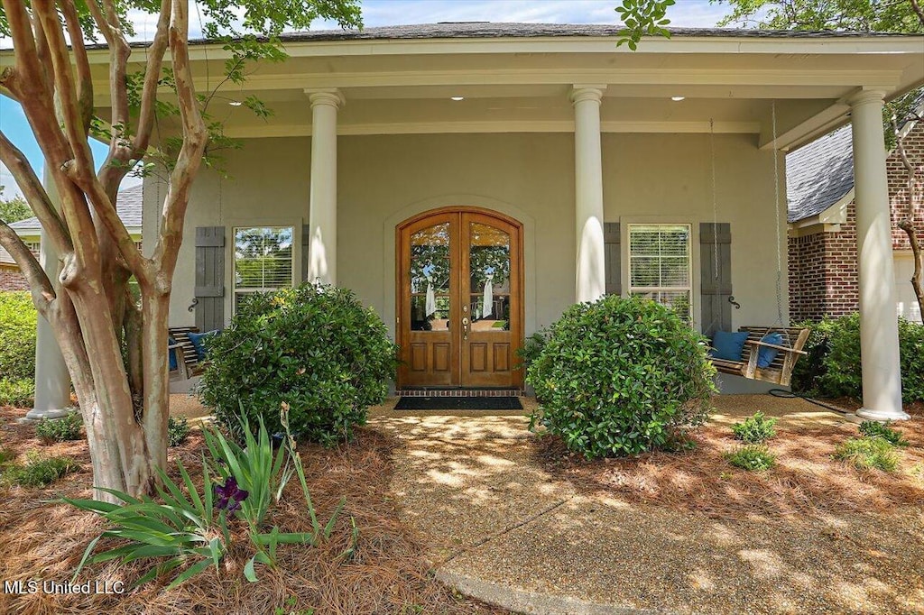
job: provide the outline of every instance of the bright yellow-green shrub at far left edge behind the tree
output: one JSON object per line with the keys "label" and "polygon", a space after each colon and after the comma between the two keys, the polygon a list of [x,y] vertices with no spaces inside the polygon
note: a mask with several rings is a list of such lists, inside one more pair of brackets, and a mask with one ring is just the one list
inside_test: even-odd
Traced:
{"label": "bright yellow-green shrub at far left edge behind the tree", "polygon": [[0,378],[35,378],[35,325],[38,312],[26,291],[0,292]]}

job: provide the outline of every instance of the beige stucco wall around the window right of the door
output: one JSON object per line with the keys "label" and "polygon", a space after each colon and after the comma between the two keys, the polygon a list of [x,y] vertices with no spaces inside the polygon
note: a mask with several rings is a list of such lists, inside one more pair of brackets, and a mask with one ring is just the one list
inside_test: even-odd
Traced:
{"label": "beige stucco wall around the window right of the door", "polygon": [[[780,229],[784,320],[788,315],[785,202],[781,202],[777,218],[773,154],[758,150],[755,139],[748,135],[716,135],[714,139],[714,216],[719,223],[731,224],[732,291],[741,304],[741,309],[732,311],[732,324],[734,328],[772,325],[778,320],[775,225]],[[782,158],[779,171],[784,199]],[[604,135],[603,199],[607,222],[693,224],[693,311],[699,321],[699,223],[713,221],[710,136]],[[622,269],[626,288],[625,259]]]}

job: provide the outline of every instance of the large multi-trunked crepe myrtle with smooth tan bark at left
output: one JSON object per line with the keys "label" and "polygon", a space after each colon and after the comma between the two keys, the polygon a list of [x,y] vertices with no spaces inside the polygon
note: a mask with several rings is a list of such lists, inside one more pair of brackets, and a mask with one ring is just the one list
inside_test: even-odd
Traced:
{"label": "large multi-trunked crepe myrtle with smooth tan bark at left", "polygon": [[[314,18],[361,26],[356,0],[199,0],[196,6],[188,0],[2,0],[0,10],[0,35],[13,43],[0,91],[22,105],[57,202],[3,132],[0,161],[54,245],[59,266],[44,271],[3,220],[0,246],[25,274],[35,307],[55,332],[86,425],[94,495],[102,500],[113,498],[100,488],[152,492],[156,468],[166,463],[167,312],[189,190],[202,164],[231,144],[208,114],[215,91],[197,92],[194,84],[190,9],[200,13],[204,37],[229,56],[221,84],[238,87],[250,63],[285,57],[278,36],[284,29],[307,29]],[[128,43],[129,14],[155,18],[143,49]],[[105,121],[94,108],[87,49],[100,38],[108,54]],[[259,100],[245,103],[258,115],[270,113]],[[170,128],[162,137],[157,127]],[[91,138],[109,144],[98,172]],[[142,175],[156,169],[166,184],[159,231],[145,237],[150,257],[116,215],[119,184],[138,169]],[[138,303],[128,290],[131,278],[140,289]]]}

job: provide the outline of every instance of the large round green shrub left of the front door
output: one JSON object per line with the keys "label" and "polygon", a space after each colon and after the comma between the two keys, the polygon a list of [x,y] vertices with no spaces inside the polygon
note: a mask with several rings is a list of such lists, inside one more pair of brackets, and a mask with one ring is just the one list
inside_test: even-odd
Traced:
{"label": "large round green shrub left of the front door", "polygon": [[324,445],[353,437],[396,366],[382,320],[335,286],[255,294],[206,348],[200,395],[221,425],[239,435],[241,416],[250,426],[262,417],[270,433],[282,432],[286,402],[292,432]]}

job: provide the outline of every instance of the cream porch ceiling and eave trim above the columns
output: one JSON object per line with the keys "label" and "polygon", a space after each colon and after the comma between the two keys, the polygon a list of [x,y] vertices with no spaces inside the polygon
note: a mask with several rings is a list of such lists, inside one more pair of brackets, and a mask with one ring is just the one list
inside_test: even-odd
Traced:
{"label": "cream porch ceiling and eave trim above the columns", "polygon": [[[285,63],[257,67],[243,89],[224,84],[210,111],[232,136],[310,135],[305,90],[337,88],[345,135],[564,132],[574,129],[568,92],[591,84],[606,86],[603,131],[706,132],[714,120],[718,132],[754,134],[761,147],[785,150],[844,124],[845,98],[861,88],[891,98],[924,83],[924,37],[729,34],[650,40],[634,53],[610,36],[293,40]],[[92,54],[104,107],[106,52]],[[134,56],[140,68],[143,50]],[[192,57],[198,87],[212,89],[225,52],[198,44]],[[0,66],[11,60],[0,52]],[[251,94],[274,116],[264,122],[228,104]]]}

